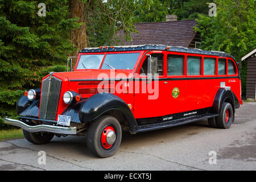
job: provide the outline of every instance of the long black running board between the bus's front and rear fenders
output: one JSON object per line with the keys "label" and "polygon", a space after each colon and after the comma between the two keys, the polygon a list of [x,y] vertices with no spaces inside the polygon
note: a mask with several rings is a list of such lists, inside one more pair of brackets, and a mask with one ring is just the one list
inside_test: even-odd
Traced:
{"label": "long black running board between the bus's front and rear fenders", "polygon": [[187,123],[199,121],[201,119],[207,119],[207,118],[212,118],[212,117],[216,117],[216,116],[218,116],[218,114],[207,114],[207,115],[200,115],[200,116],[195,116],[195,117],[175,119],[175,120],[172,120],[172,121],[166,121],[166,122],[160,122],[160,123],[154,123],[154,124],[148,124],[148,125],[139,125],[137,127],[137,130],[131,131],[131,133],[139,133],[139,132],[142,132],[142,131],[164,129],[164,128],[167,128],[167,127],[184,125],[184,124],[187,124]]}

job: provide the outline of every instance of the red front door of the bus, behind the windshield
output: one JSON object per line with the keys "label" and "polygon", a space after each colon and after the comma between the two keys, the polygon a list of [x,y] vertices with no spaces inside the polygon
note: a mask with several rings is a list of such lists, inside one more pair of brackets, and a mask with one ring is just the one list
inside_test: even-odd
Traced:
{"label": "red front door of the bus, behind the windshield", "polygon": [[163,51],[148,52],[152,57],[158,58],[159,80],[147,81],[147,56],[142,59],[139,75],[134,81],[134,117],[151,118],[162,116],[165,101],[163,76]]}

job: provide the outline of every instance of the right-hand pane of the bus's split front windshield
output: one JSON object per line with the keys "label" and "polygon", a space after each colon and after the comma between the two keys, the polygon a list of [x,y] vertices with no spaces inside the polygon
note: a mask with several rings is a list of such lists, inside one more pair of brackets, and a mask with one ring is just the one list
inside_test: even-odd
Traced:
{"label": "right-hand pane of the bus's split front windshield", "polygon": [[101,69],[133,69],[140,53],[107,54]]}

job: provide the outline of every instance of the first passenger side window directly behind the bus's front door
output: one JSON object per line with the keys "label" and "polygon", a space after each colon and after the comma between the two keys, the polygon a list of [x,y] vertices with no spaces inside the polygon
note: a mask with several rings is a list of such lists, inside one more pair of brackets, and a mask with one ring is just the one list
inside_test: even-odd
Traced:
{"label": "first passenger side window directly behind the bus's front door", "polygon": [[184,56],[167,55],[167,75],[184,75]]}

